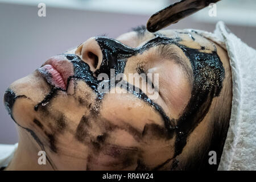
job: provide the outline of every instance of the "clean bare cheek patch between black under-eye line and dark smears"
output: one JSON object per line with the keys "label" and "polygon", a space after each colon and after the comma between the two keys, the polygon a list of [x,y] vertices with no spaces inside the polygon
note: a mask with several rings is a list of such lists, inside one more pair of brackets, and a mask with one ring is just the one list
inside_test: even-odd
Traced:
{"label": "clean bare cheek patch between black under-eye line and dark smears", "polygon": [[149,104],[129,93],[106,94],[101,115],[114,125],[134,127],[141,133],[147,123],[163,127],[160,115]]}

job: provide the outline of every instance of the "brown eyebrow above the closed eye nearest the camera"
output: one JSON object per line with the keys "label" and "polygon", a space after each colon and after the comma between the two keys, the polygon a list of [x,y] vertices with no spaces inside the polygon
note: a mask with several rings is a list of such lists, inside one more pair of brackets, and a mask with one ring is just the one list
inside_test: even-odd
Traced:
{"label": "brown eyebrow above the closed eye nearest the camera", "polygon": [[157,48],[157,51],[160,56],[173,60],[174,63],[181,65],[183,68],[185,75],[188,78],[189,84],[193,84],[193,71],[192,68],[189,67],[187,61],[183,59],[183,57],[180,56],[179,52],[177,52],[175,47],[172,47],[170,45],[160,45]]}

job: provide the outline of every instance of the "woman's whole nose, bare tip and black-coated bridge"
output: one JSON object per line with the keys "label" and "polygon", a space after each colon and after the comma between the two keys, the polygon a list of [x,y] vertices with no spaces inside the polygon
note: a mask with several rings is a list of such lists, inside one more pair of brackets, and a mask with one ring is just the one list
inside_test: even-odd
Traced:
{"label": "woman's whole nose, bare tip and black-coated bridge", "polygon": [[95,76],[100,73],[110,76],[110,69],[115,69],[115,74],[122,73],[127,58],[135,53],[137,49],[127,47],[117,40],[100,36],[88,39],[76,50],[76,54],[89,64]]}

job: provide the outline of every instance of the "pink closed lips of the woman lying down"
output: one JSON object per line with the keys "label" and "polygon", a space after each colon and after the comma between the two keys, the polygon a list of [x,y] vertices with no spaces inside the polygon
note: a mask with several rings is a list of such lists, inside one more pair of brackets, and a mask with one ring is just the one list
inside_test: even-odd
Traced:
{"label": "pink closed lips of the woman lying down", "polygon": [[38,69],[47,82],[67,90],[68,78],[73,76],[73,64],[64,55],[51,57]]}

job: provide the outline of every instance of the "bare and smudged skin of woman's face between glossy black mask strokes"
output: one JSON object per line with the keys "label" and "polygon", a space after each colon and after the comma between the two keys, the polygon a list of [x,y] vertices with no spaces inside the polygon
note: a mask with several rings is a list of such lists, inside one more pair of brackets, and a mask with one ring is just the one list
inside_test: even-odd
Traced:
{"label": "bare and smudged skin of woman's face between glossy black mask strokes", "polygon": [[[19,146],[6,169],[170,170],[177,161],[175,169],[185,168],[189,158],[197,155],[197,149],[207,143],[216,110],[228,106],[225,114],[230,115],[232,82],[229,58],[224,49],[196,33],[163,30],[157,34],[179,38],[180,45],[200,49],[204,53],[216,50],[225,69],[219,96],[213,98],[207,113],[189,134],[179,155],[175,155],[177,135],[170,137],[163,115],[134,94],[117,93],[123,88],[114,87],[115,93],[106,93],[99,100],[84,80],[72,78],[68,85],[65,83],[67,90],[57,90],[50,100],[35,109],[52,90],[51,84],[37,70],[9,87],[16,97],[11,115],[18,126]],[[115,40],[136,49],[155,36],[147,31],[139,36],[133,31]],[[79,56],[89,65],[92,73],[100,68],[104,59],[96,39],[90,38],[65,52]],[[192,65],[184,51],[176,44],[167,44],[152,46],[128,57],[123,74],[127,76],[125,81],[132,82],[129,73],[138,73],[138,69],[158,73],[159,96],[154,103],[175,123],[191,99],[193,76],[176,60],[161,53],[160,48],[176,52],[192,72]],[[51,60],[58,61],[61,65],[59,71],[63,74],[69,72],[72,75],[73,64],[67,56],[51,57],[47,63]],[[142,89],[143,84],[148,83],[142,79],[134,86]],[[152,98],[148,90],[142,89],[142,92]],[[42,150],[46,152],[46,165],[38,164],[38,152]]]}

